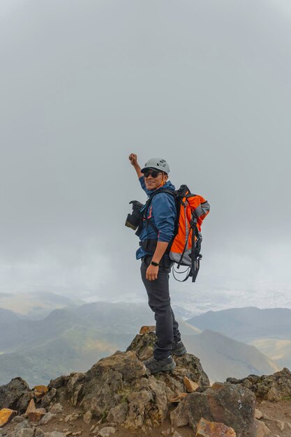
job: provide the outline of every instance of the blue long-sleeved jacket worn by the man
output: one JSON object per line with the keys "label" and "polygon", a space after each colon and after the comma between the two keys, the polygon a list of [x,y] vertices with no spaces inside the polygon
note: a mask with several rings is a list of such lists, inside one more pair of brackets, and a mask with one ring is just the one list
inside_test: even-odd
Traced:
{"label": "blue long-sleeved jacket worn by the man", "polygon": [[[156,188],[156,190],[148,190],[144,184],[144,177],[140,177],[139,180],[142,189],[147,193],[148,197],[154,193],[154,191],[158,191],[161,188],[172,191],[175,189],[174,185],[170,181],[167,181],[163,187]],[[151,226],[146,227],[144,223],[142,232],[140,233],[140,241],[143,242],[145,239],[157,239],[158,242],[170,242],[174,235],[176,214],[176,203],[172,195],[167,193],[155,195],[153,200],[151,200],[151,205],[147,212],[147,218],[151,218],[152,223],[158,229],[158,235]],[[137,260],[144,255],[153,255],[153,253],[144,251],[142,247],[137,249]]]}

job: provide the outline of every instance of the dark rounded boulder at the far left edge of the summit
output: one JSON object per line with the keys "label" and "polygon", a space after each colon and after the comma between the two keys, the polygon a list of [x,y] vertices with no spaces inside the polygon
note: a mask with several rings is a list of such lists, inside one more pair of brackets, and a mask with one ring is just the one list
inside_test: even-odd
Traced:
{"label": "dark rounded boulder at the far left edge of the summit", "polygon": [[0,408],[24,413],[32,396],[29,385],[22,378],[13,378],[10,383],[0,387]]}

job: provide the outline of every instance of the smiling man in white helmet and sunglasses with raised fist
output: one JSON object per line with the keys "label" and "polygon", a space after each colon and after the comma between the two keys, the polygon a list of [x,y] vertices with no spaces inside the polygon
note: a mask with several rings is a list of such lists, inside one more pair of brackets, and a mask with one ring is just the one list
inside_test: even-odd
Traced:
{"label": "smiling man in white helmet and sunglasses with raised fist", "polygon": [[[164,159],[151,158],[142,169],[137,163],[136,154],[130,154],[129,160],[137,172],[142,189],[148,196],[161,188],[174,191],[174,185],[167,180],[170,168]],[[176,214],[172,195],[163,192],[154,195],[142,224],[140,249],[136,253],[137,260],[142,260],[142,281],[156,320],[157,341],[154,356],[144,362],[151,373],[174,369],[176,363],[171,354],[184,355],[187,352],[181,341],[169,294],[172,261],[166,251],[174,235]]]}

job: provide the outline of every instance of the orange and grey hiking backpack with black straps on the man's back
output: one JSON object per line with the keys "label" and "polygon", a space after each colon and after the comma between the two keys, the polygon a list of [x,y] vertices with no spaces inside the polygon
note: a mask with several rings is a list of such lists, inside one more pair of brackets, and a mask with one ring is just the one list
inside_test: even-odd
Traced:
{"label": "orange and grey hiking backpack with black straps on the man's back", "polygon": [[153,193],[147,202],[146,209],[148,209],[154,195],[158,193],[168,193],[176,201],[177,218],[174,237],[169,243],[167,253],[169,253],[170,259],[177,263],[177,269],[181,265],[186,266],[187,269],[183,272],[177,272],[173,267],[173,276],[177,279],[174,273],[186,273],[185,279],[180,282],[186,281],[190,276],[192,276],[192,282],[195,282],[200,268],[200,259],[202,258],[200,253],[202,242],[201,225],[209,213],[210,205],[201,195],[191,193],[188,186],[181,185],[177,191],[161,188]]}

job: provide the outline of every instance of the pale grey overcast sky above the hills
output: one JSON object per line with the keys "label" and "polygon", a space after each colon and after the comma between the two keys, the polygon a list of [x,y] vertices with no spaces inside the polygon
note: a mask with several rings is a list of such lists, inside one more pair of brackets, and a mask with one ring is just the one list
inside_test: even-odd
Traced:
{"label": "pale grey overcast sky above the hills", "polygon": [[144,297],[135,152],[211,204],[173,292],[291,307],[290,45],[289,0],[1,0],[0,291]]}

